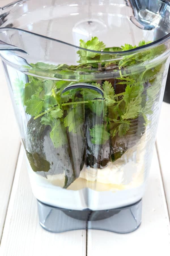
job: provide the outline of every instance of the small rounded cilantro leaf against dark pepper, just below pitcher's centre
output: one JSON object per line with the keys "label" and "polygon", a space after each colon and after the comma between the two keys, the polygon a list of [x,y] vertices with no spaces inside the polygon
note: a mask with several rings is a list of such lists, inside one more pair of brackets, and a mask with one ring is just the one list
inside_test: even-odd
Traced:
{"label": "small rounded cilantro leaf against dark pepper, just below pitcher's centre", "polygon": [[105,130],[104,125],[95,125],[90,130],[91,141],[94,144],[105,144],[109,140],[110,133]]}

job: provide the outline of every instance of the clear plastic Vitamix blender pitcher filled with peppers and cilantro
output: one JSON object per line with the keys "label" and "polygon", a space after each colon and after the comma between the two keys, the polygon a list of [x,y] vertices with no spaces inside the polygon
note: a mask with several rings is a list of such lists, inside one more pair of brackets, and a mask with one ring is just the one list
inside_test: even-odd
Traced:
{"label": "clear plastic Vitamix blender pitcher filled with peppers and cilantro", "polygon": [[41,226],[137,229],[169,67],[169,5],[29,0],[0,13]]}

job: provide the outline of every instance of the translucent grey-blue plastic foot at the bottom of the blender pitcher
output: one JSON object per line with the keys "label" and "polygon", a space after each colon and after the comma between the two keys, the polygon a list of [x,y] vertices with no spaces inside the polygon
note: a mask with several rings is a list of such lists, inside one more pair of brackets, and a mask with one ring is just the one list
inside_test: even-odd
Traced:
{"label": "translucent grey-blue plastic foot at the bottom of the blender pitcher", "polygon": [[116,233],[129,233],[141,224],[142,199],[126,207],[97,210],[68,210],[46,205],[39,200],[40,225],[51,232],[77,229],[100,229]]}

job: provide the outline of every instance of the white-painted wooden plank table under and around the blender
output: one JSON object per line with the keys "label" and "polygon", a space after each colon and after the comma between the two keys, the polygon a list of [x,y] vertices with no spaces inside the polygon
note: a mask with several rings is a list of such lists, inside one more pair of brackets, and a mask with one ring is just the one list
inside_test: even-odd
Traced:
{"label": "white-painted wooden plank table under and around the blender", "polygon": [[[10,1],[0,0],[0,6]],[[170,255],[170,104],[163,103],[142,224],[130,234],[77,230],[60,234],[39,225],[18,128],[0,65],[0,255]]]}

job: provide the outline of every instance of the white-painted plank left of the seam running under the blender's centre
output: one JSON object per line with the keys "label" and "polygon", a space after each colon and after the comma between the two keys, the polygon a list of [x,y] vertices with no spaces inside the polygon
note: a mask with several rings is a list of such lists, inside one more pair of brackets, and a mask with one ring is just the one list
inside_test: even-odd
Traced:
{"label": "white-painted plank left of the seam running under the blender's centre", "polygon": [[[1,256],[86,255],[86,230],[60,234],[45,231],[38,221],[22,150],[12,187],[1,241]],[[22,162],[22,164],[21,164]],[[21,167],[20,167],[21,166]]]}

